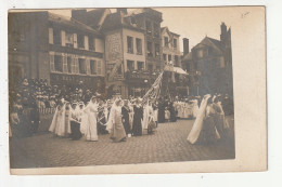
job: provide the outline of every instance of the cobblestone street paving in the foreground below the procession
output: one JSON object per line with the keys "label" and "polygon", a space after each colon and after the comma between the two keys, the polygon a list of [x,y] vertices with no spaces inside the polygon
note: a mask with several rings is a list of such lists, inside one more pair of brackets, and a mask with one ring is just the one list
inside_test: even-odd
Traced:
{"label": "cobblestone street paving in the foreground below the procession", "polygon": [[[233,117],[228,117],[233,126]],[[11,168],[85,166],[193,160],[234,159],[233,136],[215,145],[191,145],[187,136],[194,120],[161,123],[154,135],[112,143],[108,135],[99,142],[70,141],[50,133],[10,142]],[[231,133],[232,134],[232,133]]]}

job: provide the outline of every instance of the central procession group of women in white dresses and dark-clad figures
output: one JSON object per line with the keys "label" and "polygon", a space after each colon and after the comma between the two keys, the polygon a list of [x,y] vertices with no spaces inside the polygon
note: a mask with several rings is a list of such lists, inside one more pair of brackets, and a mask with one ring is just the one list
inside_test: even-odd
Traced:
{"label": "central procession group of women in white dresses and dark-clad figures", "polygon": [[152,101],[142,105],[142,98],[121,99],[115,96],[104,101],[97,93],[87,105],[60,101],[49,131],[59,137],[74,141],[82,136],[97,142],[99,134],[110,134],[113,142],[128,137],[153,134],[157,126],[157,107]]}

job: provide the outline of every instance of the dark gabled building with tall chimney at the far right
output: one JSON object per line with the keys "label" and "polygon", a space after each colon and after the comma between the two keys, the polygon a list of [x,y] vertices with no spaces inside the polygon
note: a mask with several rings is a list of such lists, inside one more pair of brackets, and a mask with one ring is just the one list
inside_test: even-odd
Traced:
{"label": "dark gabled building with tall chimney at the far right", "polygon": [[[184,49],[182,66],[190,75],[192,95],[233,95],[231,29],[225,23],[220,28],[220,40],[205,37],[190,53]],[[187,42],[183,43],[189,46]]]}

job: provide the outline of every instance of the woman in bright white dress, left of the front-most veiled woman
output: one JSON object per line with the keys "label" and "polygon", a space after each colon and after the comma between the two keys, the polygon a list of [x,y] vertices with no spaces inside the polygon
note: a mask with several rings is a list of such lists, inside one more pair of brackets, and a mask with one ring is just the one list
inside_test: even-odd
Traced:
{"label": "woman in bright white dress, left of the front-most veiled woman", "polygon": [[[82,132],[86,135],[87,141],[97,142],[98,132],[97,132],[97,116],[98,116],[98,103],[97,97],[92,96],[85,110],[86,117],[82,118],[81,124]],[[81,131],[81,129],[80,129]]]}

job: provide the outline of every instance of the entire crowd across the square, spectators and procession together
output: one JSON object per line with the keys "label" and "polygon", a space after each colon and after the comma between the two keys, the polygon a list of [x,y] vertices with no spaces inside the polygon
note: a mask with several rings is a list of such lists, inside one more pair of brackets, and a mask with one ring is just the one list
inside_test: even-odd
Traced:
{"label": "entire crowd across the square, spectators and procession together", "polygon": [[124,142],[131,136],[154,134],[158,123],[195,119],[188,141],[205,144],[225,138],[229,128],[225,116],[233,112],[232,99],[220,94],[144,102],[132,96],[105,99],[84,89],[82,82],[76,88],[59,88],[44,80],[24,79],[17,88],[17,92],[10,93],[10,132],[15,136],[35,134],[40,123],[38,108],[48,107],[54,108],[49,131],[59,137],[77,141],[85,136],[97,142],[100,134],[110,134],[113,142]]}

